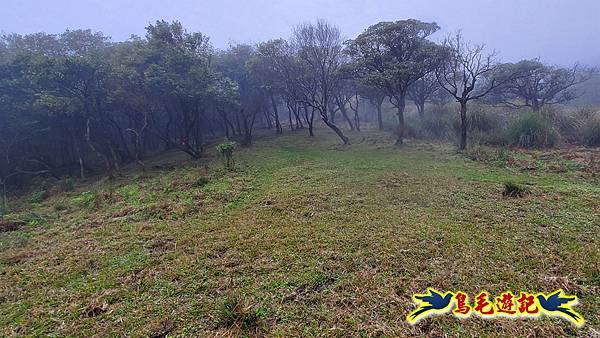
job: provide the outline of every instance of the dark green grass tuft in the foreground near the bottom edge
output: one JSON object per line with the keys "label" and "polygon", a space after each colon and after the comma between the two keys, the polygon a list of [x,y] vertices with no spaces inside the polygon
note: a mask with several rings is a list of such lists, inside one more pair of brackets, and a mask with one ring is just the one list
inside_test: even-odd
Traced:
{"label": "dark green grass tuft in the foreground near the bottom edge", "polygon": [[242,331],[256,329],[263,313],[259,309],[245,305],[237,295],[229,296],[217,309],[217,325],[239,327]]}

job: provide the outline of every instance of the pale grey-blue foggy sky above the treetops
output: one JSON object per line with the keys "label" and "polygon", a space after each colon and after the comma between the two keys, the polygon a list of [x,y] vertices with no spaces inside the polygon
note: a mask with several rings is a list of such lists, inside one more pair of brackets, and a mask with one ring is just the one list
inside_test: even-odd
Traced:
{"label": "pale grey-blue foggy sky above the treetops", "polygon": [[91,28],[122,41],[157,19],[179,20],[213,45],[290,35],[323,18],[353,38],[379,21],[415,18],[462,29],[503,61],[541,57],[553,64],[600,65],[600,0],[2,0],[3,33]]}

